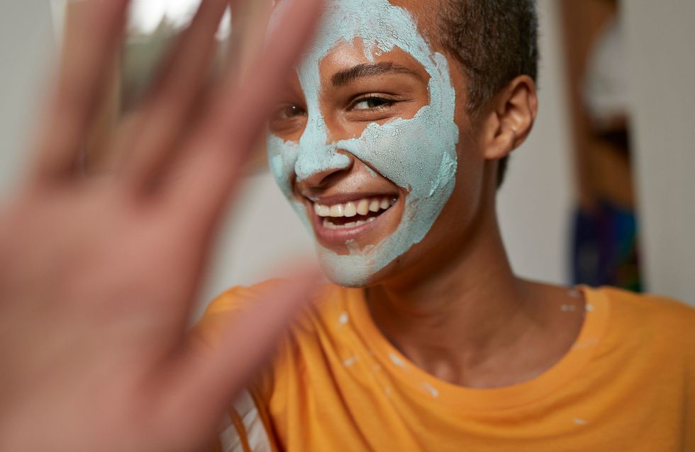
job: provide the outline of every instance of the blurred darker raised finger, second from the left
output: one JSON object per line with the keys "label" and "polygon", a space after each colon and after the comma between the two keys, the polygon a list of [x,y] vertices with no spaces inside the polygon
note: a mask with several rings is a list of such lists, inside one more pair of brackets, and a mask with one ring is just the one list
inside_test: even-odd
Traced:
{"label": "blurred darker raised finger, second from the left", "polygon": [[157,82],[138,113],[143,120],[126,145],[115,152],[126,155],[128,187],[148,186],[152,177],[172,157],[172,148],[191,119],[215,55],[216,32],[230,0],[203,0],[187,30],[179,37]]}

